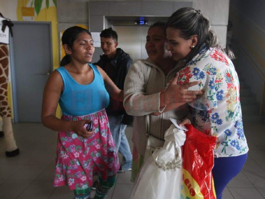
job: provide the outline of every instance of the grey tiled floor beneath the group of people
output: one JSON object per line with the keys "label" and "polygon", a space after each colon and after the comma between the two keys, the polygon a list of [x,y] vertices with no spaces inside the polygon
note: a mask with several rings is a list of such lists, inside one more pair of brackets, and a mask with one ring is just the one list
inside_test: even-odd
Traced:
{"label": "grey tiled floor beneath the group of people", "polygon": [[[265,199],[265,124],[244,126],[250,147],[248,160],[223,199]],[[57,133],[40,123],[14,123],[13,129],[21,154],[6,158],[4,139],[0,138],[0,199],[73,199],[67,187],[52,186]],[[132,127],[127,127],[126,134],[132,145]],[[132,188],[130,172],[118,174],[106,199],[129,199]]]}

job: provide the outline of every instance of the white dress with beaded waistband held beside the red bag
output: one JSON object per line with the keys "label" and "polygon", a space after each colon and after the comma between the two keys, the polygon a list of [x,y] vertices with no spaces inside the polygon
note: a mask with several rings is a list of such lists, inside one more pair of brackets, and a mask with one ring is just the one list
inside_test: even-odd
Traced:
{"label": "white dress with beaded waistband held beside the red bag", "polygon": [[181,146],[186,134],[174,124],[166,131],[165,144],[144,163],[131,199],[180,199]]}

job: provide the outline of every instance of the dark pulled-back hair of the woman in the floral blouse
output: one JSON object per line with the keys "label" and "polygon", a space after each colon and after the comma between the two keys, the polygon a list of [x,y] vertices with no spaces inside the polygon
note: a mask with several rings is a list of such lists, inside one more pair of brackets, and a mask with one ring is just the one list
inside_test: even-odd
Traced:
{"label": "dark pulled-back hair of the woman in the floral blouse", "polygon": [[[189,62],[196,54],[199,53],[203,44],[206,44],[208,47],[217,47],[222,49],[215,32],[211,30],[208,17],[202,14],[200,10],[196,10],[192,7],[182,7],[177,9],[177,11],[169,17],[167,27],[180,30],[181,36],[184,39],[189,39],[193,35],[198,36],[198,42],[189,53],[186,62]],[[231,59],[234,58],[231,50],[222,50],[227,53]]]}

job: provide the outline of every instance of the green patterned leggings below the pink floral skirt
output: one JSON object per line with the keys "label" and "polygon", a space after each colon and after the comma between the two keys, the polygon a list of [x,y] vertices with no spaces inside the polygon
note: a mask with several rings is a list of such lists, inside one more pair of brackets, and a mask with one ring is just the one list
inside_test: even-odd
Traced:
{"label": "green patterned leggings below the pink floral skirt", "polygon": [[[106,181],[99,179],[99,184],[95,191],[94,199],[104,199],[107,193],[114,187],[116,183],[116,175],[109,176]],[[75,190],[75,199],[90,199],[90,188],[83,190]]]}

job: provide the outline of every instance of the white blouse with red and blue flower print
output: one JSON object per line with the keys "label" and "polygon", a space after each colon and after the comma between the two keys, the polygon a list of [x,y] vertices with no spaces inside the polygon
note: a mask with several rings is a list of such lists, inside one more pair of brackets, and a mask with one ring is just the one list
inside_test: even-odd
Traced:
{"label": "white blouse with red and blue flower print", "polygon": [[202,50],[179,71],[178,84],[200,81],[189,90],[204,94],[189,103],[194,127],[217,136],[215,157],[243,155],[248,152],[239,96],[239,79],[232,61],[218,48]]}

